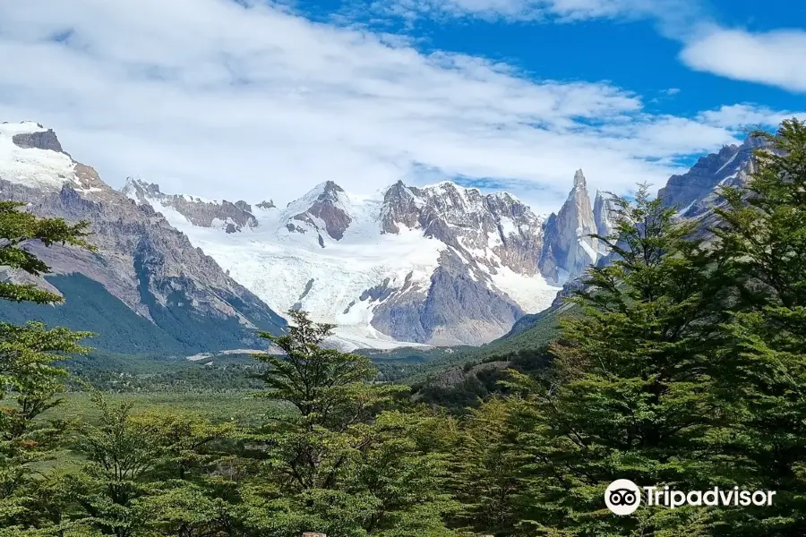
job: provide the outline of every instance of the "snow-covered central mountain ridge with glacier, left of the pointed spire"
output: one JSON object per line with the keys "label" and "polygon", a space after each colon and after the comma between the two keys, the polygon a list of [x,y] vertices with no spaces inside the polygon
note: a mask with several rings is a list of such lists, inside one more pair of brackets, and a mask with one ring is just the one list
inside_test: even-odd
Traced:
{"label": "snow-covered central mountain ridge with glacier, left of the pointed spire", "polygon": [[[134,196],[139,203],[166,214],[275,310],[312,311],[352,337],[363,333],[368,345],[484,343],[535,305],[519,304],[521,296],[512,294],[525,293],[515,287],[542,293],[533,299],[542,304],[556,292],[537,271],[542,218],[506,193],[399,181],[374,196],[355,196],[325,182],[285,209],[244,201],[258,225],[227,234],[236,223],[223,212],[208,215],[210,224],[193,222],[193,210],[177,202],[193,196],[133,182],[124,191],[145,192]],[[273,277],[261,277],[263,269]],[[284,300],[271,302],[282,291],[270,279],[285,280]]]}

